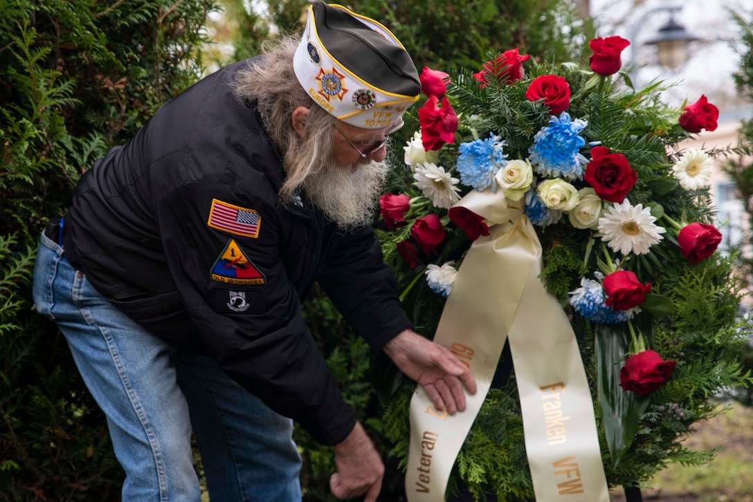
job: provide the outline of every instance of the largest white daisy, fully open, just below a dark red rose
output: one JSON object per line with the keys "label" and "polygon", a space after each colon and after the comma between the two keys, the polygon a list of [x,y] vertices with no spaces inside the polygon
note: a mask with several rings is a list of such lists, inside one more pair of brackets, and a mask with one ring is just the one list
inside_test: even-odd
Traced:
{"label": "largest white daisy, fully open, just below a dark red rose", "polygon": [[645,255],[648,248],[663,239],[660,234],[666,232],[655,221],[650,208],[643,204],[631,206],[630,201],[623,200],[622,204],[612,204],[599,218],[599,232],[612,251]]}

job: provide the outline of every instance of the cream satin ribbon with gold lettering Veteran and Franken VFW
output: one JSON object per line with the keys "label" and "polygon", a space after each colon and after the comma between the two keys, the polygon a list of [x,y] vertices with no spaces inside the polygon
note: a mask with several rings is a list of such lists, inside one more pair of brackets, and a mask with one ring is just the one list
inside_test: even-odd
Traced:
{"label": "cream satin ribbon with gold lettering Veteran and Franken VFW", "polygon": [[447,415],[421,387],[410,401],[405,488],[410,502],[444,500],[447,480],[492,383],[505,339],[523,413],[538,502],[608,502],[596,418],[575,332],[548,294],[541,243],[520,203],[472,191],[456,206],[489,222],[456,275],[434,335],[471,369],[478,387],[465,412]]}

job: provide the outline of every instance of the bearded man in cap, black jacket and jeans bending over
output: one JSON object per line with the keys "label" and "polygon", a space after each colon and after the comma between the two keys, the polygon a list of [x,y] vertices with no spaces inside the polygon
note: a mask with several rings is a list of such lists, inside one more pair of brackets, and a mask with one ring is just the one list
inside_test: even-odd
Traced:
{"label": "bearded man in cap, black jacket and jeans bending over", "polygon": [[212,500],[300,500],[290,418],[333,445],[335,496],[376,500],[383,464],[300,315],[316,281],[465,409],[470,372],[411,330],[367,226],[419,90],[389,30],[317,2],[300,42],[204,78],[82,176],[41,237],[35,305],[107,416],[123,500],[200,500],[191,427]]}

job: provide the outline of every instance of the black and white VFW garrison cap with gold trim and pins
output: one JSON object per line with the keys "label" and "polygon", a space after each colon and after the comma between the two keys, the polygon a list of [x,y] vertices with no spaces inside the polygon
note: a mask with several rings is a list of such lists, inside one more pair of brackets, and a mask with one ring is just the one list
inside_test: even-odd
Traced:
{"label": "black and white VFW garrison cap with gold trim and pins", "polygon": [[395,35],[341,5],[309,6],[293,66],[319,106],[365,129],[400,121],[421,93],[416,66]]}

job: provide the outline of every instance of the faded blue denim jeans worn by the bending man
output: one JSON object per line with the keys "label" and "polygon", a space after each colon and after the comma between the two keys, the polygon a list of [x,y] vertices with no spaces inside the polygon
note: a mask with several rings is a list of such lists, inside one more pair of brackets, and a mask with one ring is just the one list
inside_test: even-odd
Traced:
{"label": "faded blue denim jeans worn by the bending man", "polygon": [[200,500],[192,427],[212,500],[300,500],[291,420],[264,406],[211,357],[176,350],[117,310],[44,234],[34,302],[65,335],[105,412],[126,472],[124,501]]}

